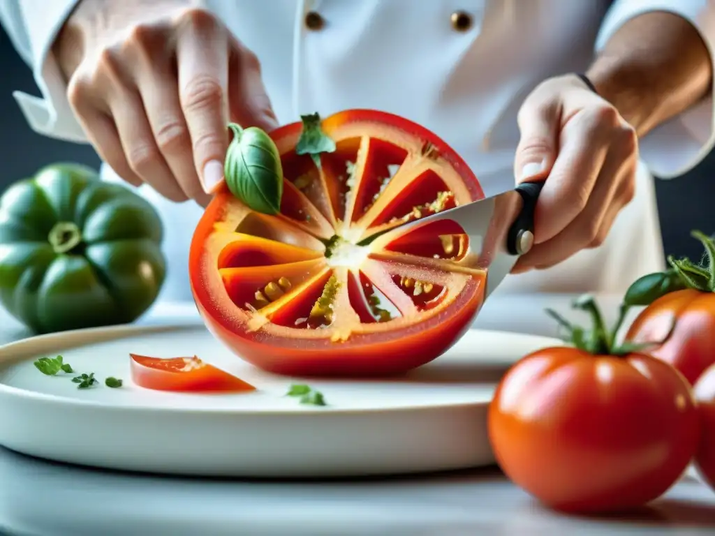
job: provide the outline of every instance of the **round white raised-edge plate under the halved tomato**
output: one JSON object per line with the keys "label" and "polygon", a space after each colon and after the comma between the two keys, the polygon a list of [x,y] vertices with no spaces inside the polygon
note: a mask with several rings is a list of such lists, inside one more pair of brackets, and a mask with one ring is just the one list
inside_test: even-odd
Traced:
{"label": "round white raised-edge plate under the halved tomato", "polygon": [[[495,382],[547,337],[470,330],[407,377],[310,379],[327,407],[286,397],[297,378],[242,362],[200,324],[109,327],[0,347],[0,444],[28,455],[118,470],[238,477],[345,477],[493,463],[486,412]],[[248,394],[177,394],[134,386],[129,352],[197,354],[254,384]],[[102,382],[77,389],[36,357],[62,354]],[[107,376],[124,387],[104,386]]]}

